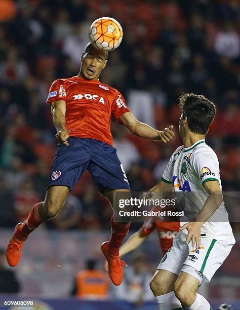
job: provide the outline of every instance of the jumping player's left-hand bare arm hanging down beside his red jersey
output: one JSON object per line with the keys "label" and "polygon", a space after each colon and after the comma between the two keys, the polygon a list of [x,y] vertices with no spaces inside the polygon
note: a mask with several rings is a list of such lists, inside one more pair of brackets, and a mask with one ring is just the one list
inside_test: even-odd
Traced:
{"label": "jumping player's left-hand bare arm hanging down beside his red jersey", "polygon": [[53,115],[53,123],[57,130],[56,138],[63,145],[68,145],[68,131],[65,128],[66,123],[66,102],[63,100],[51,102],[51,112]]}

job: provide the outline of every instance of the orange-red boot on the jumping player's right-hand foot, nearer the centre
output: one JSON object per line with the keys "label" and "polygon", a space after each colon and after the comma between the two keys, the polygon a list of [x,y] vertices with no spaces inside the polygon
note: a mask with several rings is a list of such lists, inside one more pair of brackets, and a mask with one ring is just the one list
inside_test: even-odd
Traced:
{"label": "orange-red boot on the jumping player's right-hand foot, nearer the centre", "polygon": [[123,267],[127,266],[126,262],[120,259],[120,256],[113,256],[109,253],[108,241],[104,242],[101,250],[108,262],[108,274],[113,284],[120,285],[123,281]]}

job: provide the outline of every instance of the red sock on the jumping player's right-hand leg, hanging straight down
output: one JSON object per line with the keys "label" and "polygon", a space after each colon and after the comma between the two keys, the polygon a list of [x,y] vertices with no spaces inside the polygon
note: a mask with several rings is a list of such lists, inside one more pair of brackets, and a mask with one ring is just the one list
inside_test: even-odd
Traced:
{"label": "red sock on the jumping player's right-hand leg, hanging straight down", "polygon": [[112,232],[111,232],[111,237],[109,240],[109,253],[112,256],[118,256],[119,255],[119,247],[121,247],[124,238],[127,236],[129,227],[131,223],[118,223],[114,222],[113,220],[113,215],[111,217],[111,227],[112,227]]}

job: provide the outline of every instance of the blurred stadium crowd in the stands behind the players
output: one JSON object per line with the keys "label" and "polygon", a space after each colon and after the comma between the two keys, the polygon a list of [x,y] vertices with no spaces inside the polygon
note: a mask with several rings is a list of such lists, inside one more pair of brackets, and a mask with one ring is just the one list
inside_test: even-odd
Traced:
{"label": "blurred stadium crowd in the stands behind the players", "polygon": [[[0,226],[25,219],[44,199],[57,146],[48,90],[79,70],[88,29],[99,17],[123,26],[101,81],[123,93],[140,121],[178,131],[183,92],[204,94],[218,113],[207,137],[220,161],[224,191],[240,186],[240,6],[237,0],[4,0],[0,8]],[[161,177],[177,137],[144,140],[112,122],[114,146],[134,191]],[[109,225],[108,202],[89,173],[49,228]]]}

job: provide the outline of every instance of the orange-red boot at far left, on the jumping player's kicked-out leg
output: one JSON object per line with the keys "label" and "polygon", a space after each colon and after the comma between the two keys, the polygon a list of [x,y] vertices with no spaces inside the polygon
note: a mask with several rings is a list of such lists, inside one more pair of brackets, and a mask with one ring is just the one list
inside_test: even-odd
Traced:
{"label": "orange-red boot at far left, on the jumping player's kicked-out leg", "polygon": [[22,252],[22,247],[24,245],[24,241],[18,241],[14,235],[15,231],[17,230],[18,226],[20,226],[23,223],[18,223],[14,229],[13,236],[9,241],[7,251],[6,251],[6,256],[7,256],[7,261],[8,264],[11,267],[15,267],[19,260],[21,259],[21,252]]}

